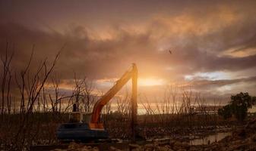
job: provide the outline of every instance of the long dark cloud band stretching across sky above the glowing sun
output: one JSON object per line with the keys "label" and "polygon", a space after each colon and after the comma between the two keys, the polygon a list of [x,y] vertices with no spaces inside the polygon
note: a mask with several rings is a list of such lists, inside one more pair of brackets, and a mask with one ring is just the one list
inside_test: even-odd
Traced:
{"label": "long dark cloud band stretching across sky above the glowing sun", "polygon": [[[201,45],[207,43],[197,42],[201,37],[198,40],[197,37],[189,39],[188,36],[185,39],[188,41],[186,45],[175,46],[173,54],[169,55],[167,51],[156,51],[157,42],[150,38],[152,32],[130,33],[122,29],[116,29],[116,32],[118,34],[115,39],[100,40],[90,39],[87,29],[82,26],[72,27],[63,34],[8,23],[0,28],[1,54],[5,52],[6,41],[11,42],[15,48],[14,66],[21,68],[30,57],[32,45],[36,45],[34,60],[43,60],[45,57],[53,57],[66,44],[57,69],[67,73],[63,74],[67,79],[73,76],[74,71],[96,79],[113,77],[133,62],[142,68],[145,65],[147,70],[162,70],[172,64],[177,67],[175,72],[179,75],[218,70],[237,71],[256,66],[256,55],[228,57],[200,51]],[[247,45],[247,41],[241,45]]]}

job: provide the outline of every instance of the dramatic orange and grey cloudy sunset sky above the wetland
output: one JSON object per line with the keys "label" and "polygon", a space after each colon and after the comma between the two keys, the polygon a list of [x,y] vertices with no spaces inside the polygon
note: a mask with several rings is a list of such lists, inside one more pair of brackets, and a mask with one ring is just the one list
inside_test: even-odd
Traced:
{"label": "dramatic orange and grey cloudy sunset sky above the wetland", "polygon": [[[0,47],[15,69],[50,59],[55,69],[110,88],[131,63],[139,94],[185,85],[208,97],[256,94],[256,1],[0,1]],[[172,54],[169,54],[169,50]],[[68,87],[66,85],[66,87]]]}

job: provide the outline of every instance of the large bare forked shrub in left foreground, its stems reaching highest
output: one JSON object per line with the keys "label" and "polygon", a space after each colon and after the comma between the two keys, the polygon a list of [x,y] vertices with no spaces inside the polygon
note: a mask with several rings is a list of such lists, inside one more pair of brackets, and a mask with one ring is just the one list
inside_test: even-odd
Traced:
{"label": "large bare forked shrub in left foreground, its stems reaching highest", "polygon": [[[34,50],[34,46],[33,46]],[[62,49],[61,49],[62,50]],[[24,146],[30,145],[34,137],[38,133],[33,133],[31,129],[35,126],[33,119],[30,116],[33,115],[33,106],[36,100],[40,97],[40,93],[46,83],[46,80],[49,78],[50,73],[53,71],[55,64],[58,61],[58,57],[61,51],[58,51],[55,59],[53,60],[50,66],[47,66],[46,60],[43,60],[43,63],[40,63],[36,72],[31,75],[29,72],[30,63],[33,57],[33,51],[30,56],[30,61],[28,62],[24,72],[21,72],[21,83],[17,79],[16,82],[18,88],[21,92],[21,126],[17,128],[17,133],[14,135],[14,148],[12,149],[23,149]],[[25,108],[25,97],[27,100],[27,105]],[[24,114],[25,113],[25,114]],[[36,125],[39,126],[40,122],[36,122]]]}

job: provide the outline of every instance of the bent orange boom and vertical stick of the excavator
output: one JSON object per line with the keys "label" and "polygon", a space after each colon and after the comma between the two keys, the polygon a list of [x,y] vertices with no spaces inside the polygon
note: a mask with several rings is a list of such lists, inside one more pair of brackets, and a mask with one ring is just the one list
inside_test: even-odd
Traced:
{"label": "bent orange boom and vertical stick of the excavator", "polygon": [[103,129],[103,124],[100,123],[100,112],[103,109],[103,106],[112,99],[112,97],[120,91],[120,89],[132,79],[132,95],[131,95],[131,127],[134,131],[134,126],[137,124],[137,66],[133,63],[132,68],[125,72],[122,77],[115,82],[115,85],[103,95],[103,97],[98,100],[95,105],[93,106],[93,112],[90,119],[89,126],[91,129]]}

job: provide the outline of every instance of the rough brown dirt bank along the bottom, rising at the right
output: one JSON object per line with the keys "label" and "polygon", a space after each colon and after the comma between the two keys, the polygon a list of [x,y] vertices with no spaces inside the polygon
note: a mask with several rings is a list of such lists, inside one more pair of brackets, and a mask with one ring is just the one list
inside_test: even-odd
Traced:
{"label": "rough brown dirt bank along the bottom, rising at the right", "polygon": [[232,134],[218,142],[206,145],[190,145],[187,140],[152,140],[146,143],[100,143],[83,144],[69,143],[66,146],[52,150],[77,150],[77,151],[97,151],[97,150],[133,150],[133,151],[165,151],[165,150],[256,150],[256,119],[248,122],[242,128],[232,130]]}

